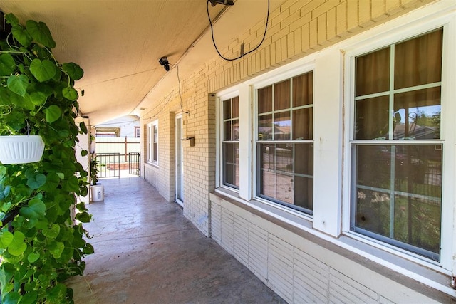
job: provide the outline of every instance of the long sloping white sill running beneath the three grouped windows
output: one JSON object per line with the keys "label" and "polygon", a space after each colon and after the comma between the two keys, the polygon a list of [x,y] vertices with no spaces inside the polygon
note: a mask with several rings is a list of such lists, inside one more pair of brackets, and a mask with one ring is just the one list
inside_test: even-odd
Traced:
{"label": "long sloping white sill running beneath the three grouped windows", "polygon": [[[446,302],[447,295],[456,297],[456,290],[450,286],[451,273],[435,265],[429,267],[410,261],[391,252],[373,246],[356,236],[342,235],[338,238],[324,234],[312,228],[312,221],[301,214],[281,210],[280,207],[271,206],[263,201],[252,199],[245,201],[239,194],[229,189],[217,188],[212,193],[224,201],[238,206],[266,221],[270,221],[291,233],[301,236],[313,243],[317,243],[330,251],[340,254],[352,261],[357,261],[362,266],[414,290],[423,290],[423,284],[434,289],[427,290],[431,298]],[[442,293],[440,293],[440,292]]]}

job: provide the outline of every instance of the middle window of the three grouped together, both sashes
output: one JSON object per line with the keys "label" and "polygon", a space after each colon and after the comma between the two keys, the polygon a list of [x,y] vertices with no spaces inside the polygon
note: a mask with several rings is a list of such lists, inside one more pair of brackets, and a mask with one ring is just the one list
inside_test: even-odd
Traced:
{"label": "middle window of the three grouped together, both sashes", "polygon": [[257,90],[257,195],[312,214],[313,72]]}

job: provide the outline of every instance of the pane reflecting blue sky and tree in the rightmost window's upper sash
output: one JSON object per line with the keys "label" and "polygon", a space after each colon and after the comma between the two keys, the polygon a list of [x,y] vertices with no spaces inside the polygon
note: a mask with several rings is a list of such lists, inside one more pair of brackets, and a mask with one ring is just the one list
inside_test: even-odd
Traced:
{"label": "pane reflecting blue sky and tree in the rightmost window's upper sash", "polygon": [[396,94],[394,138],[440,138],[440,87]]}

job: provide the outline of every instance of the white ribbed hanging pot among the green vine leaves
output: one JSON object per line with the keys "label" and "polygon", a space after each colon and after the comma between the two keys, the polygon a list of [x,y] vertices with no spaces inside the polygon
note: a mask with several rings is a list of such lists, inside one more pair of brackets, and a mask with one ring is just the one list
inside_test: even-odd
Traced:
{"label": "white ribbed hanging pot among the green vine leaves", "polygon": [[0,162],[26,164],[39,162],[44,152],[44,142],[39,135],[0,136]]}

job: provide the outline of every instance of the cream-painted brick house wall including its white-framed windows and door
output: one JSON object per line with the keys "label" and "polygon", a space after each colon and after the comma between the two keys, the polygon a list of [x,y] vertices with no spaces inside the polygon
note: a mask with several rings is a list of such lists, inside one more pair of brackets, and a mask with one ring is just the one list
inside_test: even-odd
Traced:
{"label": "cream-painted brick house wall including its white-framed windows and door", "polygon": [[320,4],[286,1],[257,51],[156,100],[143,177],[289,303],[450,301],[456,3]]}

